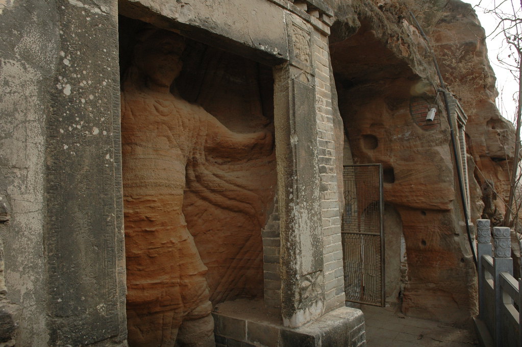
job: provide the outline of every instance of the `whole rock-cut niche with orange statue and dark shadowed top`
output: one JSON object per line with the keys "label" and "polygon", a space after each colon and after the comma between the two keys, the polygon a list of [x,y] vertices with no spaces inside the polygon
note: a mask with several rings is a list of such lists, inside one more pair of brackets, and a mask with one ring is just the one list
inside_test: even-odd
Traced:
{"label": "whole rock-cut niche with orange statue and dark shadowed top", "polygon": [[271,69],[124,17],[120,42],[129,345],[213,345],[213,305],[263,296]]}

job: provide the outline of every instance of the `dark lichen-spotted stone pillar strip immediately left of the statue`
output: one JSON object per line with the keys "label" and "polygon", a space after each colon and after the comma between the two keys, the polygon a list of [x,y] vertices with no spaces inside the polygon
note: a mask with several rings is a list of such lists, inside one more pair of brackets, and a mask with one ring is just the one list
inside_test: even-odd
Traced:
{"label": "dark lichen-spotted stone pillar strip immediately left of the statue", "polygon": [[45,143],[49,345],[122,345],[117,2],[64,1],[56,10],[60,50]]}

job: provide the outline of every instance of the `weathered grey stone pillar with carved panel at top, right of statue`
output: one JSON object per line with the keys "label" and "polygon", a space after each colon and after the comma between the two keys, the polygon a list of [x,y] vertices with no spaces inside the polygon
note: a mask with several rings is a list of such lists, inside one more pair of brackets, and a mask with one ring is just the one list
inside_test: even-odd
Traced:
{"label": "weathered grey stone pillar with carved panel at top, right of statue", "polygon": [[287,23],[290,62],[274,72],[281,313],[285,326],[299,327],[324,312],[324,259],[313,29],[295,16]]}

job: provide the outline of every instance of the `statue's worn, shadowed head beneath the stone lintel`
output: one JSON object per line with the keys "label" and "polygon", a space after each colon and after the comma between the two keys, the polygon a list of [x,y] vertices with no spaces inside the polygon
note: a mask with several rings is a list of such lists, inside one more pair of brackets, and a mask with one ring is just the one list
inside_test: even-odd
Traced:
{"label": "statue's worn, shadowed head beneath the stone lintel", "polygon": [[134,65],[149,83],[159,87],[170,87],[179,76],[185,49],[184,38],[174,32],[157,28],[146,28],[137,35],[134,48]]}

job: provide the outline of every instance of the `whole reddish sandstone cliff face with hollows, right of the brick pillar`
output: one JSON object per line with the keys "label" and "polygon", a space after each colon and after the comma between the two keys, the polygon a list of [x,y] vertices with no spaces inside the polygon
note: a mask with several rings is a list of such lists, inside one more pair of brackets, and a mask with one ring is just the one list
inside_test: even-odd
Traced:
{"label": "whole reddish sandstone cliff face with hollows, right of the brick pillar", "polygon": [[[384,169],[387,302],[414,316],[464,321],[476,311],[476,271],[430,46],[468,117],[470,219],[495,220],[504,212],[514,128],[495,107],[484,31],[458,0],[328,3],[337,16],[330,54],[353,161]],[[486,180],[501,197],[493,199]]]}

